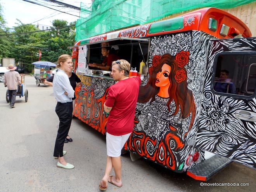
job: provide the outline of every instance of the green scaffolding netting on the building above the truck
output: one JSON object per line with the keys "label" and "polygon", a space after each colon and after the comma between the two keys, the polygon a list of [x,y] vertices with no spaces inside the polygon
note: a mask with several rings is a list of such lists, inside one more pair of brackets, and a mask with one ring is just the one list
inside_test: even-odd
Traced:
{"label": "green scaffolding netting on the building above the truck", "polygon": [[81,3],[80,19],[76,22],[79,41],[115,29],[157,21],[182,11],[216,7],[228,9],[255,0],[94,0]]}

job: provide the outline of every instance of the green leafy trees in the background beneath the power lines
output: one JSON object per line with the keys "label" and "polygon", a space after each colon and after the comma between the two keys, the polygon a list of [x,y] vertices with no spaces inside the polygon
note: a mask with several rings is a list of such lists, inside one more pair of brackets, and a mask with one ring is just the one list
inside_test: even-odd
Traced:
{"label": "green leafy trees in the background beneath the power lines", "polygon": [[[17,24],[11,32],[5,27],[0,5],[0,59],[13,57],[16,64],[18,62],[27,72],[31,72],[31,63],[38,61],[39,50],[42,53],[40,61],[56,62],[59,55],[71,55],[72,50],[67,47],[75,43],[75,27],[69,25],[74,25],[75,22],[68,25],[67,21],[54,20],[50,31],[40,31],[35,25],[24,24],[18,19]],[[13,35],[3,35],[5,33]]]}

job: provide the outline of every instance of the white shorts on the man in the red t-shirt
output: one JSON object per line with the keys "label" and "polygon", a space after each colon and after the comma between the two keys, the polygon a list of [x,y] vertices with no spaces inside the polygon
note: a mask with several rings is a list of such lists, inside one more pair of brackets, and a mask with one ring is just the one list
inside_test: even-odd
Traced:
{"label": "white shorts on the man in the red t-shirt", "polygon": [[131,133],[126,135],[111,135],[107,133],[106,135],[106,143],[107,143],[107,156],[109,157],[119,157],[121,156],[121,150],[125,145],[125,142],[130,137]]}

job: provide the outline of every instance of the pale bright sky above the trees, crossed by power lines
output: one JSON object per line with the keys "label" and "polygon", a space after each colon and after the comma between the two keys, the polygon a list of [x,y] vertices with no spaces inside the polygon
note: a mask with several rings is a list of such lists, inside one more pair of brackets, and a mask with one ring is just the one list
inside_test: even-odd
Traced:
{"label": "pale bright sky above the trees, crossed by power lines", "polygon": [[[59,0],[59,1],[74,5],[76,7],[80,7],[81,0]],[[82,0],[82,1],[85,2],[85,0]],[[40,3],[42,2],[43,1],[41,0]],[[54,19],[63,19],[68,22],[76,21],[76,19],[78,19],[78,17],[64,14],[59,11],[48,9],[46,7],[35,5],[22,0],[0,0],[0,3],[2,6],[4,19],[7,22],[6,25],[9,28],[12,28],[13,26],[17,26],[17,24],[15,24],[17,22],[16,18],[19,19],[24,24],[34,22],[33,24],[39,23],[39,24],[49,25],[49,26],[51,26],[51,21],[53,21]],[[47,2],[44,2],[44,3],[47,3]],[[64,11],[64,12],[69,11],[70,14],[79,16],[78,10],[64,9],[59,7],[53,7],[53,8]],[[35,22],[47,16],[48,17],[52,16],[52,17]]]}

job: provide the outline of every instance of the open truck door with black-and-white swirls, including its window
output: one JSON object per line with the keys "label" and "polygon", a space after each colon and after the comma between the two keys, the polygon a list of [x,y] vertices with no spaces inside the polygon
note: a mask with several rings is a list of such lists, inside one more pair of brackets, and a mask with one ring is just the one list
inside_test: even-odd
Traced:
{"label": "open truck door with black-and-white swirls, including its window", "polygon": [[256,169],[256,38],[210,40],[196,146]]}

